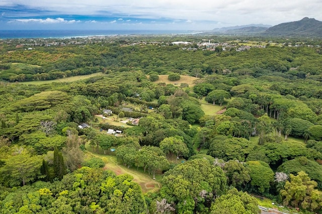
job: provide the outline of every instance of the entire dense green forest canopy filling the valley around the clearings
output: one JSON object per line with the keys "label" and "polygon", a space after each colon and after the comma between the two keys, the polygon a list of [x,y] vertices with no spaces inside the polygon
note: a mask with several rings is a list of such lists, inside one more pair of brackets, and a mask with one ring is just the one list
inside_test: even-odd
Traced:
{"label": "entire dense green forest canopy filling the valley around the clearings", "polygon": [[[115,147],[119,163],[141,168],[156,179],[171,168],[162,178],[162,189],[146,196],[151,212],[217,213],[220,209],[233,213],[238,209],[256,213],[251,197],[234,189],[224,195],[226,186],[279,200],[277,194],[287,176],[283,182],[274,182],[273,170],[287,174],[305,171],[309,177],[305,180],[315,180],[316,187],[322,188],[318,48],[269,47],[241,52],[217,48],[212,54],[167,45],[119,46],[131,41],[113,44],[103,39],[100,45],[82,48],[39,47],[28,56],[15,47],[15,52],[8,53],[5,49],[10,44],[0,44],[0,78],[8,81],[105,73],[74,82],[0,83],[0,182],[6,186],[0,188],[0,209],[145,212],[142,192],[130,176],[79,169],[82,165],[101,168],[106,162],[89,159],[82,151],[86,144],[105,155],[111,155],[107,151]],[[170,72],[202,78],[191,77],[187,83],[181,78],[175,80],[178,84],[153,82],[158,74]],[[212,104],[227,102],[226,112],[209,112],[201,101],[204,97]],[[104,122],[95,117],[102,109],[123,117],[124,106],[133,109],[124,112],[124,117],[140,118],[138,126],[116,126],[118,122],[112,123],[115,115]],[[82,123],[91,128],[79,129]],[[100,128],[121,130],[124,136],[111,136],[105,130],[99,132]],[[295,139],[287,139],[288,135]],[[175,161],[179,157],[186,159],[184,163]],[[288,182],[294,183],[292,179]],[[292,201],[302,194],[302,186],[287,188],[282,197],[295,204]],[[316,211],[319,201],[314,198],[319,193],[309,191],[311,196],[304,196],[303,204],[297,205]],[[13,198],[18,198],[14,204]]]}

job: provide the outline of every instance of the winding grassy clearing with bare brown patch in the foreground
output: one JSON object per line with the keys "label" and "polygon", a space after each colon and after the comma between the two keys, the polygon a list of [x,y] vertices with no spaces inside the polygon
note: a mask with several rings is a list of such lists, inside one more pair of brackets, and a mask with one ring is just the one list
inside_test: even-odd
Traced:
{"label": "winding grassy clearing with bare brown patch in the foreground", "polygon": [[114,152],[108,151],[105,155],[104,150],[102,150],[101,148],[98,148],[98,150],[96,150],[96,147],[94,147],[93,150],[93,147],[91,147],[89,144],[86,144],[85,147],[94,156],[99,158],[106,158],[108,160],[108,163],[106,163],[104,169],[112,170],[117,175],[126,173],[133,176],[133,181],[141,186],[143,192],[160,188],[160,183],[157,181],[162,178],[161,174],[156,174],[156,179],[153,180],[152,175],[144,173],[141,169],[136,170],[135,167],[127,168],[123,166],[123,164],[117,160]]}

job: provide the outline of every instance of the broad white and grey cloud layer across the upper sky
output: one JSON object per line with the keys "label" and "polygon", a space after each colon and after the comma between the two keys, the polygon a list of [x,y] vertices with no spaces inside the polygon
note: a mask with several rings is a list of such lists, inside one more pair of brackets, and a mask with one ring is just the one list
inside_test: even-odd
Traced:
{"label": "broad white and grey cloud layer across the upper sky", "polygon": [[[67,2],[2,0],[0,2],[0,7],[18,5],[43,13],[51,11],[51,14],[56,15],[128,17],[127,22],[139,18],[188,20],[192,24],[212,22],[210,29],[260,23],[275,25],[297,21],[303,17],[322,21],[321,0],[69,0]],[[189,24],[188,21],[186,24]],[[50,20],[44,22],[50,23]],[[53,22],[59,21],[54,19]],[[221,26],[218,26],[218,23],[221,23]]]}

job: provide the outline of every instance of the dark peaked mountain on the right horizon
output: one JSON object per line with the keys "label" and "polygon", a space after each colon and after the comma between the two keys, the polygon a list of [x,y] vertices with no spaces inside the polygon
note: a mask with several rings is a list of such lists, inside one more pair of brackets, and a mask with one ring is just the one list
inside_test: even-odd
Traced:
{"label": "dark peaked mountain on the right horizon", "polygon": [[267,29],[263,35],[322,37],[322,22],[305,17],[300,21],[275,25]]}

